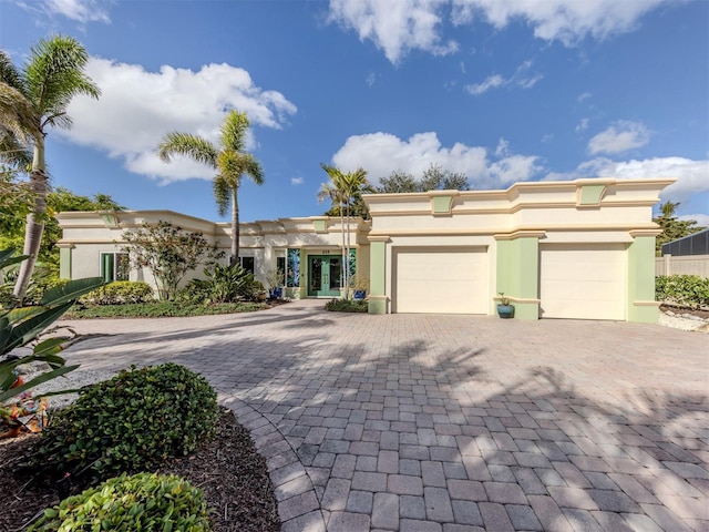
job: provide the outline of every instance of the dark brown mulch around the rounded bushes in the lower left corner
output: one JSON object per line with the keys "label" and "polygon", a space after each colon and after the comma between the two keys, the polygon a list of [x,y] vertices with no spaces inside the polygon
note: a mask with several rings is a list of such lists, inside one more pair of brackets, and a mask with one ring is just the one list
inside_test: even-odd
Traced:
{"label": "dark brown mulch around the rounded bushes in the lower left corner", "polygon": [[[0,440],[0,530],[23,530],[42,510],[59,503],[53,485],[19,472],[38,434]],[[266,461],[248,431],[223,409],[216,437],[192,454],[158,470],[178,474],[204,491],[215,532],[280,530]],[[80,490],[75,490],[80,491]],[[74,494],[74,492],[72,492]]]}

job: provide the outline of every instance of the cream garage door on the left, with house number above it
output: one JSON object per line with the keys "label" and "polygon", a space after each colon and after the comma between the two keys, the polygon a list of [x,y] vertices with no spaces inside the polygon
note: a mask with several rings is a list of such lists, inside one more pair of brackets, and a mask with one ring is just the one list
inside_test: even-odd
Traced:
{"label": "cream garage door on the left, with house number above it", "polygon": [[394,249],[394,313],[487,314],[485,248]]}

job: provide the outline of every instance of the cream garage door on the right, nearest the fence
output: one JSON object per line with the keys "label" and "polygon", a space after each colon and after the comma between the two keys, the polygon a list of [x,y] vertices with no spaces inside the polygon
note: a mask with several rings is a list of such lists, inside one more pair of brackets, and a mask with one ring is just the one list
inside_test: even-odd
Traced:
{"label": "cream garage door on the right, nearest the fence", "polygon": [[626,317],[624,244],[540,246],[543,318]]}

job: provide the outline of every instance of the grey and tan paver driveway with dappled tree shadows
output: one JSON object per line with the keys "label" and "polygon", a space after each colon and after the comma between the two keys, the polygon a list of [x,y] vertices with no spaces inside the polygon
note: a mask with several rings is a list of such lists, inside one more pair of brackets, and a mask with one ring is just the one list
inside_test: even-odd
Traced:
{"label": "grey and tan paver driveway with dappled tree shadows", "polygon": [[342,315],[74,321],[82,369],[173,360],[250,429],[291,531],[707,531],[706,335]]}

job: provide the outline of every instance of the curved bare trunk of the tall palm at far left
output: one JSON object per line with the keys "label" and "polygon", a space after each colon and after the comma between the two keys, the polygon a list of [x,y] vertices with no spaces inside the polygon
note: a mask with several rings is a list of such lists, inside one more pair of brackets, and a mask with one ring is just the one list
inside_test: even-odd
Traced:
{"label": "curved bare trunk of the tall palm at far left", "polygon": [[34,211],[27,215],[27,225],[24,228],[24,249],[23,255],[28,258],[20,265],[18,280],[12,290],[12,295],[22,301],[27,294],[27,288],[34,272],[37,257],[40,253],[40,244],[42,243],[42,233],[44,231],[43,217],[47,214],[47,194],[48,180],[47,166],[44,163],[44,137],[35,139],[34,155],[32,158],[32,172],[30,173],[30,186],[34,193]]}

